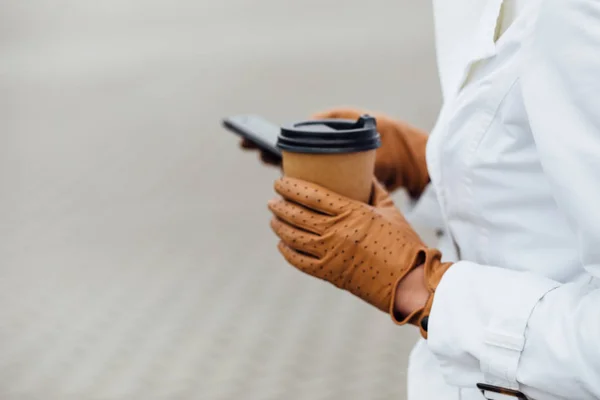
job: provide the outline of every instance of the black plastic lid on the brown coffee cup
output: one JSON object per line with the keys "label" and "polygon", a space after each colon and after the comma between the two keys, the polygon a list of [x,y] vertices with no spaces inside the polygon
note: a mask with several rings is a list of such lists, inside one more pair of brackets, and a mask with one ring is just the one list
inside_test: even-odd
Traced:
{"label": "black plastic lid on the brown coffee cup", "polygon": [[284,125],[277,147],[292,153],[355,153],[381,146],[375,118],[321,119]]}

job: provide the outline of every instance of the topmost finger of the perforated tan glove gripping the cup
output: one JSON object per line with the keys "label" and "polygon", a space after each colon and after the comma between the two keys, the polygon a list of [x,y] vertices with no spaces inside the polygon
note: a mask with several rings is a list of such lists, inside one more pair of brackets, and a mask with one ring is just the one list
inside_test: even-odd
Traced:
{"label": "topmost finger of the perforated tan glove gripping the cup", "polygon": [[275,191],[283,198],[330,216],[340,216],[360,203],[314,183],[282,177],[275,181]]}

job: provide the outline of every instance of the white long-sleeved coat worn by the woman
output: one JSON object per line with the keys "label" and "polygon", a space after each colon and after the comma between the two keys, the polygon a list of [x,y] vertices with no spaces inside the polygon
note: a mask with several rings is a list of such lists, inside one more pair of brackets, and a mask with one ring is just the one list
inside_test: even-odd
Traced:
{"label": "white long-sleeved coat worn by the woman", "polygon": [[[427,149],[458,261],[409,399],[600,398],[600,0],[434,0],[444,106]],[[504,29],[502,29],[504,30]]]}

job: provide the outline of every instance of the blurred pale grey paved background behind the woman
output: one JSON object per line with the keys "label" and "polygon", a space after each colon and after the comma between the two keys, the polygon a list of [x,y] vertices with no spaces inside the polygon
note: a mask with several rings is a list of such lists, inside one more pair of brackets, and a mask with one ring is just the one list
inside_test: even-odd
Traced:
{"label": "blurred pale grey paved background behind the woman", "polygon": [[427,1],[0,1],[0,398],[404,398],[416,332],[284,264],[220,118],[429,129],[432,36]]}

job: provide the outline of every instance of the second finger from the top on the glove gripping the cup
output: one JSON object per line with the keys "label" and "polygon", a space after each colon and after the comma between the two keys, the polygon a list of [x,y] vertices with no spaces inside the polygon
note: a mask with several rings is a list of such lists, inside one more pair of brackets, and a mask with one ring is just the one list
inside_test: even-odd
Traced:
{"label": "second finger from the top on the glove gripping the cup", "polygon": [[335,217],[314,212],[281,198],[269,201],[268,206],[279,219],[317,235],[324,234],[337,221]]}

